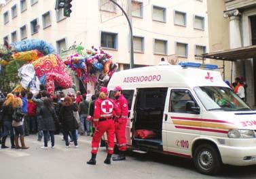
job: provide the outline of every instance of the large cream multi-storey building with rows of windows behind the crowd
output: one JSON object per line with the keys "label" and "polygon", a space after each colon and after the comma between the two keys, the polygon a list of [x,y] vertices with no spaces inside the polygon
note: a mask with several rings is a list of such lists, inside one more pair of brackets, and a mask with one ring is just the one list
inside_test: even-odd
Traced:
{"label": "large cream multi-storey building with rows of windows behind the crowd", "polygon": [[[198,61],[208,51],[206,0],[117,0],[130,9],[135,66],[151,66],[161,57]],[[130,63],[130,30],[117,6],[109,0],[76,0],[70,18],[55,11],[54,0],[7,0],[1,7],[1,42],[43,39],[57,52],[74,42],[103,47],[126,69]],[[130,8],[128,8],[130,7]]]}

